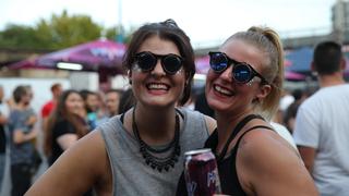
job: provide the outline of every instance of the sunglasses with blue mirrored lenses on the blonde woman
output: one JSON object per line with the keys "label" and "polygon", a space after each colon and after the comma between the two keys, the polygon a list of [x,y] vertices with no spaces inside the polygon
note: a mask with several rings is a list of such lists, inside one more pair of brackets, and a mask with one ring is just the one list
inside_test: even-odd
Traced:
{"label": "sunglasses with blue mirrored lenses on the blonde woman", "polygon": [[232,64],[231,75],[237,83],[245,84],[254,76],[257,76],[262,79],[262,83],[268,84],[268,82],[258,72],[245,62],[236,61],[224,52],[208,52],[208,54],[210,69],[216,73],[224,72]]}

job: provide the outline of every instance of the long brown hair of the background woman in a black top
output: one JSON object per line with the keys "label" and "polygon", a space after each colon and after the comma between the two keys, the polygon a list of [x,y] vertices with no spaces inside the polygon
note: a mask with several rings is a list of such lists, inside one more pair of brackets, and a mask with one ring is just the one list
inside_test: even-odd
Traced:
{"label": "long brown hair of the background woman in a black top", "polygon": [[51,154],[53,142],[53,127],[57,123],[61,121],[68,121],[69,123],[71,123],[79,138],[83,137],[88,133],[84,119],[75,113],[69,112],[67,109],[65,101],[71,94],[76,94],[80,96],[79,91],[73,89],[63,91],[58,99],[57,106],[55,107],[48,119],[47,130],[45,130],[44,142],[44,151],[46,156],[49,156]]}

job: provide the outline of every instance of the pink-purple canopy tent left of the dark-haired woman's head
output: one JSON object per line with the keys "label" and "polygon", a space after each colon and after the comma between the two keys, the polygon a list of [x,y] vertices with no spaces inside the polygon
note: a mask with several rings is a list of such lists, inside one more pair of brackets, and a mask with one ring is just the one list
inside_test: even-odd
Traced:
{"label": "pink-purple canopy tent left of the dark-haired woman's head", "polygon": [[[121,62],[124,52],[124,45],[107,39],[98,39],[37,58],[20,61],[8,66],[9,69],[81,70],[104,72],[115,75],[122,73]],[[65,63],[64,66],[60,66],[62,63]],[[76,66],[74,65],[76,64],[80,65],[77,66],[80,69],[75,69]]]}

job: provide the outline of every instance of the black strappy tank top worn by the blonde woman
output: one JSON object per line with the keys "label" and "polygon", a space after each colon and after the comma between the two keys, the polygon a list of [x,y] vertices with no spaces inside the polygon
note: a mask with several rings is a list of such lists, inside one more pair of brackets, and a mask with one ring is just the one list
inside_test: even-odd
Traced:
{"label": "black strappy tank top worn by the blonde woman", "polygon": [[[246,133],[249,133],[250,131],[253,131],[255,128],[267,128],[267,130],[273,130],[273,128],[269,126],[264,126],[264,125],[256,125],[256,126],[249,128],[238,138],[237,144],[231,149],[230,155],[226,158],[225,158],[225,155],[226,155],[226,151],[228,149],[229,144],[234,138],[234,136],[241,131],[241,128],[249,121],[251,121],[253,119],[264,120],[261,115],[256,115],[256,114],[250,114],[250,115],[245,117],[242,121],[240,121],[238,123],[238,125],[233,130],[232,134],[228,138],[226,146],[222,149],[222,152],[219,156],[216,155],[219,180],[220,180],[220,185],[221,185],[221,194],[233,195],[233,196],[246,195],[241,187],[241,184],[238,179],[238,173],[237,173],[236,160],[237,160],[237,152],[238,152],[239,144],[240,144],[242,137]],[[204,147],[210,148],[212,151],[216,151],[217,145],[218,145],[218,132],[217,132],[217,130],[215,130],[214,133],[206,140]],[[183,174],[181,175],[179,183],[178,183],[177,195],[178,196],[179,195],[180,196],[188,195],[185,180],[184,180]]]}

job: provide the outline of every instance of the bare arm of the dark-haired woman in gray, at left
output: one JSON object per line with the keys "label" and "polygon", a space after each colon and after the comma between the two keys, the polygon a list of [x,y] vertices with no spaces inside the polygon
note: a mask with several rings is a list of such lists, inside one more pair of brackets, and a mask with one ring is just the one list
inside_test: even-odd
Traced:
{"label": "bare arm of the dark-haired woman in gray, at left", "polygon": [[49,168],[25,195],[83,195],[108,170],[99,131],[79,139]]}

